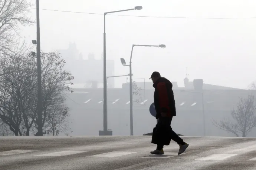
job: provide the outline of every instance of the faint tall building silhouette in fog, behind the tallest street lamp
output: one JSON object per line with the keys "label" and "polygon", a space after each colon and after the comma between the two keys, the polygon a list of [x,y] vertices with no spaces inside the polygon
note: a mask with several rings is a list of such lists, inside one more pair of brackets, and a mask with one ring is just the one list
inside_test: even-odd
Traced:
{"label": "faint tall building silhouette in fog, behind the tallest street lamp", "polygon": [[[88,54],[84,60],[82,53],[76,48],[75,43],[69,43],[68,49],[59,50],[62,59],[66,61],[65,70],[70,71],[74,76],[74,87],[78,88],[103,88],[103,57],[96,60],[93,53]],[[114,60],[106,61],[107,76],[114,76]],[[115,79],[108,79],[108,88],[114,88]]]}

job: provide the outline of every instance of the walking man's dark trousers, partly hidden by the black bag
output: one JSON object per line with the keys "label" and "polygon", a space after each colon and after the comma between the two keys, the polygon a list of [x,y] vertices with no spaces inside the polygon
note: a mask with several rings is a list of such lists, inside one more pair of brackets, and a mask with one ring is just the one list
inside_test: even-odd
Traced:
{"label": "walking man's dark trousers, partly hidden by the black bag", "polygon": [[[163,128],[167,128],[168,126],[170,127],[171,126],[171,120],[173,119],[173,117],[163,117],[163,118],[160,118],[158,119],[158,122],[157,122],[157,125],[158,126],[161,126]],[[183,141],[183,139],[181,139],[174,131],[173,129],[171,129],[170,131],[170,134],[171,136],[171,139],[175,142],[177,142],[177,144],[185,144],[185,142]],[[158,150],[161,150],[164,148],[164,145],[159,143],[157,144],[157,149]]]}

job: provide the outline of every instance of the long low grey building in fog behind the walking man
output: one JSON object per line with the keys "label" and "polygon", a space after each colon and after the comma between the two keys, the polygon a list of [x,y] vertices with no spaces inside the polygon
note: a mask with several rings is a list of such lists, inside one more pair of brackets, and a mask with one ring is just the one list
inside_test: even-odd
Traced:
{"label": "long low grey building in fog behind the walking man", "polygon": [[[144,88],[138,85],[133,88],[134,135],[152,132],[156,124],[155,117],[149,112],[149,106],[154,102],[152,82],[141,84]],[[205,124],[206,136],[234,136],[214,126],[213,121],[219,122],[224,117],[230,119],[239,97],[247,97],[255,91],[204,84],[203,80],[185,80],[184,84],[185,87],[173,87],[177,110],[177,116],[171,124],[174,131],[186,136],[203,136]],[[130,135],[128,85],[108,88],[108,129],[113,131],[113,135]],[[98,131],[103,130],[103,89],[78,88],[74,89],[74,93],[66,95],[73,134],[98,135]],[[253,129],[248,136],[255,137],[255,132]]]}

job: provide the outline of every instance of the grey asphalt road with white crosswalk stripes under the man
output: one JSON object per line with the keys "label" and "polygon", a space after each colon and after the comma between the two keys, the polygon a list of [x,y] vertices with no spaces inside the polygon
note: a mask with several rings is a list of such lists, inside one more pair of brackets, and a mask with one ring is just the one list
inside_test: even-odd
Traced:
{"label": "grey asphalt road with white crosswalk stripes under the man", "polygon": [[0,169],[256,169],[256,138],[182,138],[154,156],[150,136],[0,137]]}

